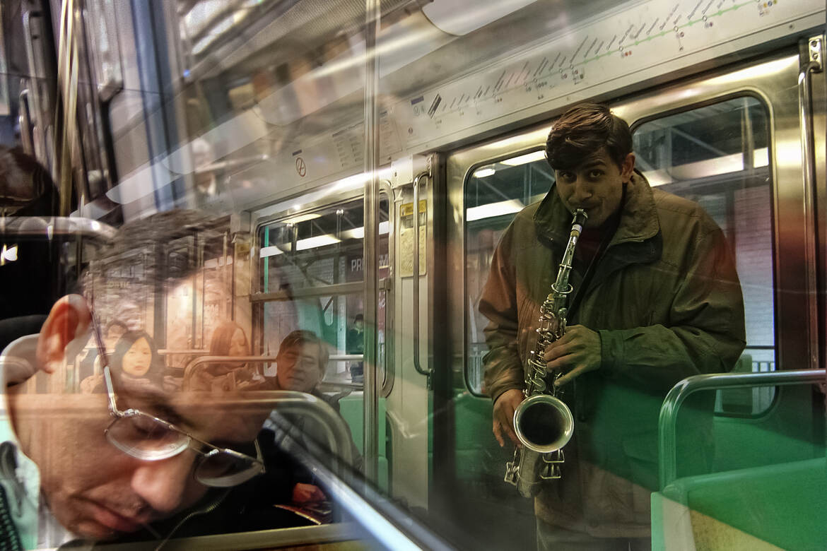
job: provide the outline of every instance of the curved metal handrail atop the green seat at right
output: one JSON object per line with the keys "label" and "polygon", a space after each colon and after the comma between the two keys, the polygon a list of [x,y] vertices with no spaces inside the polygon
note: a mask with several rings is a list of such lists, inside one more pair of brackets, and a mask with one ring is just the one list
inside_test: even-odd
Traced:
{"label": "curved metal handrail atop the green seat at right", "polygon": [[712,373],[694,375],[678,382],[667,394],[657,421],[661,490],[677,477],[677,413],[686,398],[703,390],[744,387],[782,387],[825,382],[824,369],[800,369],[768,373]]}

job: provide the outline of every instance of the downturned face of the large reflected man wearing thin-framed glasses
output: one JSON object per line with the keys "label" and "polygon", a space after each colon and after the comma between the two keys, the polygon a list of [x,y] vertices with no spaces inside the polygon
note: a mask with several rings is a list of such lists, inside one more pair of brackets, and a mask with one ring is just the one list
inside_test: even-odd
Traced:
{"label": "downturned face of the large reflected man wearing thin-framed glasses", "polygon": [[[64,297],[55,304],[37,344],[40,373],[36,377],[60,378],[63,372],[58,369],[65,366],[66,350],[91,336],[89,318],[82,297]],[[72,340],[67,343],[64,338]],[[48,384],[61,392],[63,385],[55,382]],[[197,439],[252,457],[256,456],[252,442],[272,409],[262,403],[253,411],[249,402],[244,405],[246,392],[165,392],[141,378],[113,382],[121,411],[144,411]],[[201,456],[193,449],[144,461],[111,444],[106,430],[114,417],[105,392],[23,390],[22,385],[7,389],[12,423],[23,453],[40,470],[41,492],[50,512],[74,534],[112,539],[187,510],[207,493],[208,487],[194,476]]]}

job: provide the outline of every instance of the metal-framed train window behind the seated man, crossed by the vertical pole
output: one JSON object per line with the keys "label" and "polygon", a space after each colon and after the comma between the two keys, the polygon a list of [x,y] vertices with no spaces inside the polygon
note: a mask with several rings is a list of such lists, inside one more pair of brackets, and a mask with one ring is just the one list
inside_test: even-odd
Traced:
{"label": "metal-framed train window behind the seated man, crossed by the vertical pole", "polygon": [[[394,206],[392,199],[389,201],[392,194],[390,187],[383,186],[379,222],[380,315],[375,328],[366,327],[363,320],[363,199],[352,187],[351,191],[296,197],[256,212],[251,283],[253,352],[270,358],[265,365],[265,377],[275,378],[275,357],[282,341],[292,332],[310,331],[322,339],[329,359],[318,391],[335,402],[360,452],[365,431],[377,432],[375,482],[382,489],[387,489],[390,476],[385,408],[390,408],[387,401],[394,389],[391,290],[395,229]],[[380,406],[377,418],[366,426],[362,354],[364,335],[369,330],[378,335]]]}

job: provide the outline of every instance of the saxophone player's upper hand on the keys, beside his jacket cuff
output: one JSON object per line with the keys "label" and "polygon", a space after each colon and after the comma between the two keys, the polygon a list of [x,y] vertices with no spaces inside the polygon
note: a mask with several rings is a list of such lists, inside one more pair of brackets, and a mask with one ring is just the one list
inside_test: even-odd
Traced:
{"label": "saxophone player's upper hand on the keys, beside his jacket cuff", "polygon": [[548,345],[543,359],[548,373],[563,373],[554,382],[562,387],[583,373],[600,368],[600,335],[583,325],[567,327],[560,340]]}

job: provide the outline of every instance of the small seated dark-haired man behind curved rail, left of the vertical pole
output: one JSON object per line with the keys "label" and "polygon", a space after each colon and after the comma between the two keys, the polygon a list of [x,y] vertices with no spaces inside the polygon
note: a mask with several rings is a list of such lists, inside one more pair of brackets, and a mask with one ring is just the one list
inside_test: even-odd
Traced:
{"label": "small seated dark-haired man behind curved rail, left of the vertical pole", "polygon": [[[307,392],[314,397],[327,402],[339,413],[338,400],[341,396],[328,396],[320,392],[319,384],[324,378],[324,368],[327,366],[329,354],[323,340],[313,331],[295,330],[281,341],[279,354],[276,356],[275,390]],[[340,413],[341,416],[341,413]],[[289,452],[290,446],[298,444],[304,449],[313,449],[327,445],[325,427],[313,423],[311,420],[299,416],[288,416],[274,411],[270,419],[265,422],[265,429],[275,433],[275,440]],[[361,454],[353,444],[351,438],[351,457],[356,468],[361,466]],[[298,481],[293,491],[293,501],[303,506],[316,501],[324,501],[326,497],[315,484],[312,473],[297,465],[294,477]]]}

